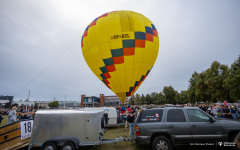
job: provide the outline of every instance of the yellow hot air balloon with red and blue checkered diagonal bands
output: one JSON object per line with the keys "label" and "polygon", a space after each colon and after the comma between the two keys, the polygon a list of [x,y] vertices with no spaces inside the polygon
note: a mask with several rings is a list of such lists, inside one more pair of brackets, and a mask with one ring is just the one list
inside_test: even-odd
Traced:
{"label": "yellow hot air balloon with red and blue checkered diagonal bands", "polygon": [[89,68],[124,103],[151,71],[158,55],[159,36],[144,15],[112,11],[87,26],[81,47]]}

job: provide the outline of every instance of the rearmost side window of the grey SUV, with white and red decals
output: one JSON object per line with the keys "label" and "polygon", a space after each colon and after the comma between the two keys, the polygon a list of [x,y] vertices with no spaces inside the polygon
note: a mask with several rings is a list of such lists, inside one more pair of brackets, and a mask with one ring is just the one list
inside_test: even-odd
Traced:
{"label": "rearmost side window of the grey SUV, with white and red decals", "polygon": [[147,123],[147,122],[160,122],[162,120],[162,109],[149,109],[143,111],[139,117],[137,122],[138,123]]}

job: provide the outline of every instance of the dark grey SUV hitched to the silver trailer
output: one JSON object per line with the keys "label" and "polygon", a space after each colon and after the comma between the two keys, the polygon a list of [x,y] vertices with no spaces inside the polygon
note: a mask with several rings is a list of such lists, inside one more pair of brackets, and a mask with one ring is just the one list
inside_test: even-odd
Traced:
{"label": "dark grey SUV hitched to the silver trailer", "polygon": [[218,146],[216,142],[233,142],[239,132],[239,121],[216,119],[193,107],[164,107],[140,111],[133,137],[154,150],[171,150],[175,145],[197,143]]}

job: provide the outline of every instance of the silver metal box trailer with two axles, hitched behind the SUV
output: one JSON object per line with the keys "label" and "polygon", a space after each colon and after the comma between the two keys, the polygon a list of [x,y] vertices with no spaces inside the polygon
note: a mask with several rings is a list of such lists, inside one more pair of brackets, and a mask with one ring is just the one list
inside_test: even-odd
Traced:
{"label": "silver metal box trailer with two axles, hitched behind the SUV", "polygon": [[106,119],[103,110],[39,110],[36,112],[29,149],[78,149],[79,146],[123,141],[103,139]]}

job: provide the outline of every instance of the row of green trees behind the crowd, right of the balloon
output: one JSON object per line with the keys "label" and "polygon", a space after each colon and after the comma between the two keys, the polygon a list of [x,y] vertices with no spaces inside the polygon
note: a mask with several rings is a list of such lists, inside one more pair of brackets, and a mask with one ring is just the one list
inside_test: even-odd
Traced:
{"label": "row of green trees behind the crowd, right of the balloon", "polygon": [[171,85],[164,86],[159,93],[131,96],[129,104],[194,104],[224,100],[230,103],[240,100],[240,55],[230,67],[214,61],[208,69],[200,73],[195,71],[187,90],[178,92]]}

